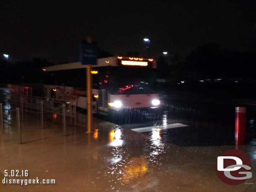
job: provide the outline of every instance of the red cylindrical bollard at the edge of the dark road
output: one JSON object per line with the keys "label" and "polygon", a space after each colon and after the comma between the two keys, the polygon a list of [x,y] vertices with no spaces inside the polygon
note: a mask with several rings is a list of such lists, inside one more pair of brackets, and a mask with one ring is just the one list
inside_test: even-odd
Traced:
{"label": "red cylindrical bollard at the edge of the dark road", "polygon": [[246,107],[235,107],[235,145],[246,144]]}

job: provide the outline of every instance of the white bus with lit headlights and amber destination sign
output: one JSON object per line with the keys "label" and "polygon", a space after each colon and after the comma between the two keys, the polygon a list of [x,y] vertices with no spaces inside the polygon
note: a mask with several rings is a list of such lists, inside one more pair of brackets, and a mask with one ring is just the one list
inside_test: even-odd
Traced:
{"label": "white bus with lit headlights and amber destination sign", "polygon": [[[137,57],[106,57],[97,59],[92,67],[94,113],[109,115],[122,109],[156,109],[160,105],[154,92],[153,59]],[[44,96],[46,99],[76,101],[86,109],[86,65],[81,62],[45,67]]]}

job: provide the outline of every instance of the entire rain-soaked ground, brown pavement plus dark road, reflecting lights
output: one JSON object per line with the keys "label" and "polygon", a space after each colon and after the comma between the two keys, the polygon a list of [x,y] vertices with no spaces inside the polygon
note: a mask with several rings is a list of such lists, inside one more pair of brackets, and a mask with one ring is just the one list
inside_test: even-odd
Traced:
{"label": "entire rain-soaked ground, brown pavement plus dark road, reflecting lights", "polygon": [[[79,125],[67,120],[67,136],[58,118],[49,115],[40,128],[38,114],[24,114],[23,144],[18,144],[15,114],[8,110],[5,94],[5,134],[0,135],[0,181],[4,170],[28,170],[29,178],[55,179],[55,184],[2,184],[0,191],[222,191],[256,190],[256,147],[233,145],[232,113],[206,113],[172,103],[163,104],[161,117],[128,124],[94,118],[94,131],[86,134],[86,115],[78,114]],[[203,107],[200,107],[203,109]],[[214,108],[212,108],[214,109]],[[222,108],[224,109],[224,108]],[[212,116],[212,114],[215,114]],[[216,120],[216,119],[219,119]],[[253,115],[248,134],[254,134]],[[232,122],[231,122],[232,121]],[[187,127],[163,129],[180,123]],[[148,132],[132,129],[150,127]],[[217,176],[217,156],[229,149],[245,152],[252,163],[252,178],[231,186]]]}

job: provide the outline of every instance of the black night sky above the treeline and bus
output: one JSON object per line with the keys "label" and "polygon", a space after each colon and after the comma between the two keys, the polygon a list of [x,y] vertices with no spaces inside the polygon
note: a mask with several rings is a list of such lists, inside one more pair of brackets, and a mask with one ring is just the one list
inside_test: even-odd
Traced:
{"label": "black night sky above the treeline and bus", "polygon": [[204,43],[256,49],[256,3],[245,0],[47,1],[5,0],[0,5],[0,53],[12,60],[78,60],[79,39],[120,54],[141,51],[189,54]]}

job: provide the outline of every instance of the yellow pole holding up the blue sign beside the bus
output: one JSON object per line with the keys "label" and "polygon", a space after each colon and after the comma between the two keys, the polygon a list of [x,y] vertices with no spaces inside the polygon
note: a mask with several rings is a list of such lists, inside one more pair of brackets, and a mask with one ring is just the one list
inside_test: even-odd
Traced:
{"label": "yellow pole holding up the blue sign beside the bus", "polygon": [[92,125],[92,114],[91,114],[91,88],[92,88],[92,75],[91,75],[91,65],[87,65],[86,71],[86,93],[87,93],[87,132],[91,133],[91,125]]}

